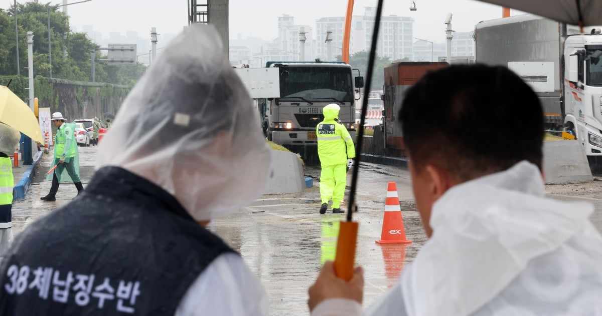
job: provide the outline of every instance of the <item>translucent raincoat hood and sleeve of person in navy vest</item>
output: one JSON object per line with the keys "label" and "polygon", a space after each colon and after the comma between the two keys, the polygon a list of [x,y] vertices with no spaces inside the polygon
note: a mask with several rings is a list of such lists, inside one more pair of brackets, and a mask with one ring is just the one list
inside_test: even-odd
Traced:
{"label": "translucent raincoat hood and sleeve of person in navy vest", "polygon": [[[254,201],[270,152],[247,90],[213,26],[191,25],[163,49],[124,101],[96,168],[119,166],[171,193],[197,221]],[[267,315],[258,278],[235,254],[216,258],[176,315]]]}

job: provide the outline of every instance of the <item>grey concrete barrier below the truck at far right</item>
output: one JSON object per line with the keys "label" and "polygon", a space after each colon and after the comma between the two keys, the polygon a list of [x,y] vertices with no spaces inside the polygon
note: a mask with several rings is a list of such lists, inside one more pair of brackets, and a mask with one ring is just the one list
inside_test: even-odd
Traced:
{"label": "grey concrete barrier below the truck at far right", "polygon": [[546,184],[594,180],[581,141],[544,142],[544,172]]}

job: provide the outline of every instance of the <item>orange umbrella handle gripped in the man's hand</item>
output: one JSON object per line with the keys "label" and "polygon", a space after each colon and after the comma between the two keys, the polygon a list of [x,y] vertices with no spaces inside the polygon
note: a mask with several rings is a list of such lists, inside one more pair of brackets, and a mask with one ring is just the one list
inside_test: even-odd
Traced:
{"label": "orange umbrella handle gripped in the man's hand", "polygon": [[355,246],[358,242],[358,222],[341,222],[335,257],[335,273],[345,281],[353,278]]}

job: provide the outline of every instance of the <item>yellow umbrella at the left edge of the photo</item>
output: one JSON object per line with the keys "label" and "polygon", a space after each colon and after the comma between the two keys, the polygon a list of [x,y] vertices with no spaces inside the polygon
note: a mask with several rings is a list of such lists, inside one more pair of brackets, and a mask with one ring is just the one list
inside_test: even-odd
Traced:
{"label": "yellow umbrella at the left edge of the photo", "polygon": [[0,85],[0,122],[44,144],[40,124],[29,106],[13,91]]}

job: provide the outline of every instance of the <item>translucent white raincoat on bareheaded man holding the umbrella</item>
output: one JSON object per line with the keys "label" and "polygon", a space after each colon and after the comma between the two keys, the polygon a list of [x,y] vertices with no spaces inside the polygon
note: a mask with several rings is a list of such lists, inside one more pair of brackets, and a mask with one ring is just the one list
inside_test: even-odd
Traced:
{"label": "translucent white raincoat on bareheaded man holding the umbrella", "polygon": [[[455,186],[433,205],[429,242],[365,315],[602,315],[592,210],[545,198],[527,162]],[[337,301],[312,316],[339,315]]]}

